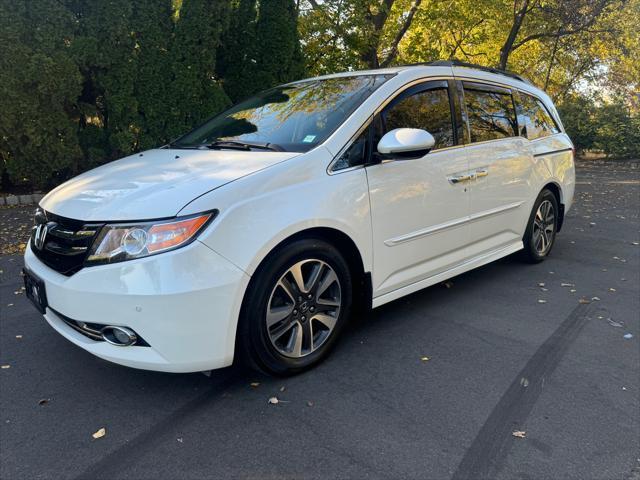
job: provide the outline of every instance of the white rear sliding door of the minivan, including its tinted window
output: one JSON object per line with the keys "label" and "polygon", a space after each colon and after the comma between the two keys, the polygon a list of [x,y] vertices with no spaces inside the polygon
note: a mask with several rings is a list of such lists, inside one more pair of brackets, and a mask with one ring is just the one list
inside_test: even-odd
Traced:
{"label": "white rear sliding door of the minivan, including its tinted window", "polygon": [[529,141],[518,132],[512,92],[485,82],[463,81],[470,143],[469,256],[509,248],[522,238],[532,196]]}

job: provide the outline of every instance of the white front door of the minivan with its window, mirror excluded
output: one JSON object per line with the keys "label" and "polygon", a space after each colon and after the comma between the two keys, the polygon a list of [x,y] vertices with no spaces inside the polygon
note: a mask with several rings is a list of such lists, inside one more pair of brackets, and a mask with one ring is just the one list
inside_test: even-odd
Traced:
{"label": "white front door of the minivan with its window, mirror excluded", "polygon": [[468,164],[457,146],[455,101],[447,81],[428,81],[405,90],[374,119],[374,150],[381,135],[396,128],[421,128],[436,140],[421,158],[385,157],[366,168],[374,298],[466,258],[469,204],[467,183],[459,180]]}

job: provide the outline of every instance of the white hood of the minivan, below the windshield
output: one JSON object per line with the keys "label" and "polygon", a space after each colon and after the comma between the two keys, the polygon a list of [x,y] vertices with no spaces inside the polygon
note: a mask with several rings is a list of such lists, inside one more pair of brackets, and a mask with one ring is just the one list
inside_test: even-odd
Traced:
{"label": "white hood of the minivan, below the windshield", "polygon": [[194,198],[300,155],[295,152],[155,149],[79,175],[49,192],[45,210],[83,221],[176,215]]}

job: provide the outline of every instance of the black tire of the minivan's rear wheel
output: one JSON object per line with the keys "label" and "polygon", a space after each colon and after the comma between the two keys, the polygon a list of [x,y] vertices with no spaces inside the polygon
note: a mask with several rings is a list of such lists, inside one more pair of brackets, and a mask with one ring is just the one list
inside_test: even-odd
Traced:
{"label": "black tire of the minivan's rear wheel", "polygon": [[[553,220],[548,222],[548,224],[547,220],[549,217],[544,218],[542,224],[540,223],[540,218],[536,218],[538,209],[540,209],[543,204],[551,205],[552,208]],[[533,204],[533,209],[531,210],[531,215],[527,223],[527,230],[522,238],[522,242],[524,243],[522,257],[525,261],[529,263],[540,263],[549,256],[555,243],[556,234],[558,233],[559,212],[558,200],[553,192],[546,188],[542,190]],[[549,231],[548,228],[552,228],[553,230]],[[541,229],[545,231],[545,235],[542,235]],[[542,235],[542,239],[540,235]],[[544,248],[541,249],[541,245]]]}

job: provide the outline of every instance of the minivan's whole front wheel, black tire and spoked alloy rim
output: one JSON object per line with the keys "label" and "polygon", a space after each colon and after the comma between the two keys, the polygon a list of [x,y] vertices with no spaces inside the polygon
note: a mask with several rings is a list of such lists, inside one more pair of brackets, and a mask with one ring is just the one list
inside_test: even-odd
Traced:
{"label": "minivan's whole front wheel, black tire and spoked alloy rim", "polygon": [[351,303],[351,273],[340,252],[323,240],[298,240],[273,252],[252,280],[238,346],[259,370],[300,372],[327,355]]}

